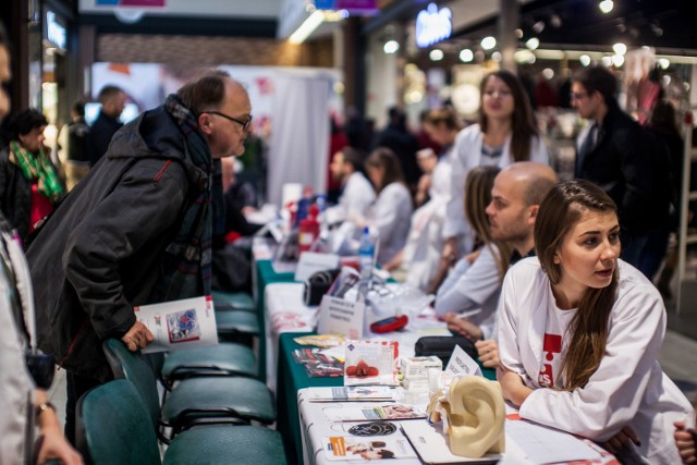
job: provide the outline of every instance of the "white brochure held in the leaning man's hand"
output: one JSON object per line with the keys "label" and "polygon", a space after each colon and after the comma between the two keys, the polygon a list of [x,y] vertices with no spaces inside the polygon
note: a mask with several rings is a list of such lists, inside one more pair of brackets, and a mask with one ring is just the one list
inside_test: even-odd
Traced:
{"label": "white brochure held in the leaning man's hand", "polygon": [[218,344],[216,313],[210,296],[142,305],[134,311],[155,338],[143,350],[144,354]]}

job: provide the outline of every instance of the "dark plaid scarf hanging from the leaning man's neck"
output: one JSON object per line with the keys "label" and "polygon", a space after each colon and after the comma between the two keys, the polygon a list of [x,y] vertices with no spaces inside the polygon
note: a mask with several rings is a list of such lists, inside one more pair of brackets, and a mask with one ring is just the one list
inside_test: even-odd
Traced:
{"label": "dark plaid scarf hanging from the leaning man's neck", "polygon": [[218,232],[222,218],[219,207],[222,205],[222,180],[216,175],[216,171],[220,171],[216,169],[220,160],[212,159],[194,114],[184,107],[178,95],[171,94],[163,108],[184,136],[186,158],[205,176],[194,186],[197,194],[184,213],[176,236],[164,250],[164,276],[151,295],[151,302],[210,295],[213,224]]}

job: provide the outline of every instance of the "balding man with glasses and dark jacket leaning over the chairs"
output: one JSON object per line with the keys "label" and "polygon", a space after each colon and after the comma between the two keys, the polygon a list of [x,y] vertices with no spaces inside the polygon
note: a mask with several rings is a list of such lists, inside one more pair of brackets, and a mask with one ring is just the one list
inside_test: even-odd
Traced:
{"label": "balding man with glasses and dark jacket leaning over the chairs", "polygon": [[39,344],[68,370],[69,438],[80,395],[111,378],[101,342],[152,341],[133,307],[210,294],[220,159],[244,151],[250,111],[227,73],[184,85],[114,134],[30,244]]}

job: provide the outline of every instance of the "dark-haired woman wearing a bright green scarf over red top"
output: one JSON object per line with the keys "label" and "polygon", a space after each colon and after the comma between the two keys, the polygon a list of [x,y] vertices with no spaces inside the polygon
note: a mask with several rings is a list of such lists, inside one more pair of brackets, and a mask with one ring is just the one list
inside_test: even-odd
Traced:
{"label": "dark-haired woman wearing a bright green scarf over red top", "polygon": [[26,242],[65,192],[44,151],[46,117],[22,110],[10,122],[12,139],[0,150],[0,210]]}

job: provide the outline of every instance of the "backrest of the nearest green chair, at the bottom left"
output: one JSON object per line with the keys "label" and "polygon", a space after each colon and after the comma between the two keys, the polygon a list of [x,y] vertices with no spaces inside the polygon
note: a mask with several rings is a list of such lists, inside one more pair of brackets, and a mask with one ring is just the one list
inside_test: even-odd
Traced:
{"label": "backrest of the nearest green chair, at the bottom left", "polygon": [[77,403],[77,449],[95,465],[160,465],[148,412],[135,386],[117,379]]}

